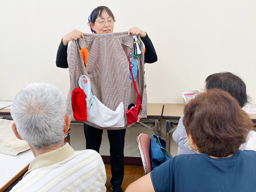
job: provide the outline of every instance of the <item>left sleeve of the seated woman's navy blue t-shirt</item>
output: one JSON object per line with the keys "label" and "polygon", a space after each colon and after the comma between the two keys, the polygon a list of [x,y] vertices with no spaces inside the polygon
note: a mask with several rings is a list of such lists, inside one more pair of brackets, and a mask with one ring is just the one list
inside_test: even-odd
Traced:
{"label": "left sleeve of the seated woman's navy blue t-shirt", "polygon": [[[155,192],[172,192],[174,188],[174,158],[164,162],[150,172]],[[172,168],[173,167],[173,168]]]}

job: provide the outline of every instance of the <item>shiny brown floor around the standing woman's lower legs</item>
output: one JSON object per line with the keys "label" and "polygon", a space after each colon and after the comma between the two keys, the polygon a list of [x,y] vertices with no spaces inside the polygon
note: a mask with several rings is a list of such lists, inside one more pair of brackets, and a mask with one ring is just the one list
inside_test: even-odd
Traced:
{"label": "shiny brown floor around the standing woman's lower legs", "polygon": [[[107,174],[107,181],[106,181],[106,188],[107,192],[112,192],[111,190],[111,170],[110,165],[105,165],[106,167],[106,174]],[[122,189],[125,191],[126,188],[135,180],[142,177],[144,175],[144,170],[142,166],[124,166],[124,180],[122,182]]]}

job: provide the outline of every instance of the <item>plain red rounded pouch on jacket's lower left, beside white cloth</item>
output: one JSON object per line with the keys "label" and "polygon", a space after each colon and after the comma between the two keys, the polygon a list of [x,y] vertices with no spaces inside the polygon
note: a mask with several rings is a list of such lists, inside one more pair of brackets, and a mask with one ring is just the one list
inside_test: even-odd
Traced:
{"label": "plain red rounded pouch on jacket's lower left, beside white cloth", "polygon": [[72,92],[71,104],[73,115],[76,121],[86,121],[86,100],[84,90],[81,88],[76,88]]}

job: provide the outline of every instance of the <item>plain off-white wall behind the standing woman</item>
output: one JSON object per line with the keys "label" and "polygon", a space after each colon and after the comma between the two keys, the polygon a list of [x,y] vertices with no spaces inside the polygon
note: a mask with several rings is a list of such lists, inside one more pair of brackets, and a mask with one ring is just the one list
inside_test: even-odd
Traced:
{"label": "plain off-white wall behind the standing woman", "polygon": [[[90,33],[88,15],[96,6],[105,5],[116,18],[114,32],[138,26],[148,33],[156,48],[158,62],[145,65],[148,102],[182,103],[182,91],[202,90],[208,75],[230,71],[244,79],[252,104],[256,104],[255,0],[134,3],[0,1],[0,100],[13,100],[32,82],[56,84],[67,95],[68,69],[55,66],[60,40],[73,29]],[[137,132],[130,130],[126,143],[135,142]],[[132,145],[126,145],[127,156],[138,156],[133,151]]]}

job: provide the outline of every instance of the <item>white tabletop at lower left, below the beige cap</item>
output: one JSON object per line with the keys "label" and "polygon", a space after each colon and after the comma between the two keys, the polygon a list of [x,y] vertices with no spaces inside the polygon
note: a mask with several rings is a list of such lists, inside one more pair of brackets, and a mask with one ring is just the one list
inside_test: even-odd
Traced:
{"label": "white tabletop at lower left, below the beige cap", "polygon": [[33,159],[34,155],[31,150],[20,153],[17,156],[0,153],[0,188],[24,169]]}

